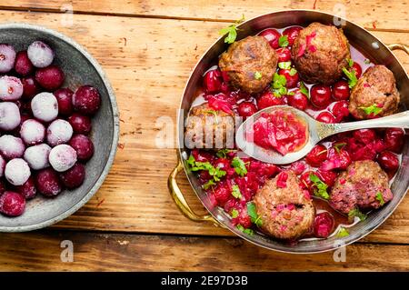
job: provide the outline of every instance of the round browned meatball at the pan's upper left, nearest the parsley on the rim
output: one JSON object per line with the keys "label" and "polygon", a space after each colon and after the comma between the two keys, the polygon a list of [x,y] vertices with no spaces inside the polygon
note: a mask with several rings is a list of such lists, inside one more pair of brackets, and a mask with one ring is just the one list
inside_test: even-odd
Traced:
{"label": "round browned meatball at the pan's upper left, nearest the parsley on the rim", "polygon": [[262,36],[248,36],[234,42],[220,56],[219,67],[230,85],[249,94],[260,93],[273,79],[278,56]]}

